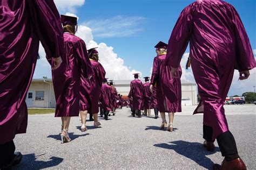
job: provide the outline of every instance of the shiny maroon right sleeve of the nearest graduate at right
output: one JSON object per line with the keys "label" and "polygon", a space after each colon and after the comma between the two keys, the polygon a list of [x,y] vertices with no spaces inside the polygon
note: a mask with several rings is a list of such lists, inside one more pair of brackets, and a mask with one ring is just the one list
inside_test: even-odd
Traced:
{"label": "shiny maroon right sleeve of the nearest graduate at right", "polygon": [[255,59],[252,52],[250,40],[238,12],[231,5],[232,22],[234,27],[236,45],[236,69],[239,71],[250,70],[255,67]]}

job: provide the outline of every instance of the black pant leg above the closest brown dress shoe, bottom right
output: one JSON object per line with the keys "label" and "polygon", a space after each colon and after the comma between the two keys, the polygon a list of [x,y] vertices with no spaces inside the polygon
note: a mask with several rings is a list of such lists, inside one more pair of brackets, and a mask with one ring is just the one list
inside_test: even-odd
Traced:
{"label": "black pant leg above the closest brown dress shoe, bottom right", "polygon": [[237,144],[235,144],[235,139],[230,131],[221,133],[217,137],[217,142],[219,144],[220,152],[223,157],[231,154],[238,154]]}

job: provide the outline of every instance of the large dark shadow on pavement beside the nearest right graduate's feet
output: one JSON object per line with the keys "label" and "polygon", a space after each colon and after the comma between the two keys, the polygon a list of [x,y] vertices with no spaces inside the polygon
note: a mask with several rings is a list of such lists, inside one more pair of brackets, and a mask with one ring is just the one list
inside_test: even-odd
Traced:
{"label": "large dark shadow on pavement beside the nearest right graduate's feet", "polygon": [[191,143],[183,140],[171,141],[170,144],[154,144],[154,146],[174,150],[175,152],[195,161],[198,165],[207,169],[212,169],[214,163],[210,158],[207,158],[206,155],[211,155],[220,151],[219,147],[215,147],[214,152],[208,152],[204,148],[203,144],[196,142]]}

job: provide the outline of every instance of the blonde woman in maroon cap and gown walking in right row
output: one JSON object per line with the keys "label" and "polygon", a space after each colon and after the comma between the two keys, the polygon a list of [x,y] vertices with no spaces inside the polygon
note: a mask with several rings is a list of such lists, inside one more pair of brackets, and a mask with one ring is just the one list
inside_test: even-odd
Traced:
{"label": "blonde woman in maroon cap and gown walking in right row", "polygon": [[181,67],[178,66],[179,77],[171,75],[171,67],[165,66],[167,44],[160,41],[155,46],[157,56],[154,58],[150,89],[157,88],[157,105],[161,114],[162,123],[160,129],[167,126],[165,112],[169,116],[167,131],[173,131],[173,118],[175,112],[181,112]]}

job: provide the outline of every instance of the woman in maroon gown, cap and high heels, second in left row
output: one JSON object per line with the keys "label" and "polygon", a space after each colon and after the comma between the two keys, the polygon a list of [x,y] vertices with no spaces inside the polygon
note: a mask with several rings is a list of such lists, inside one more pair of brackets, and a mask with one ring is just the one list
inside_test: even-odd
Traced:
{"label": "woman in maroon gown, cap and high heels, second in left row", "polygon": [[[79,102],[82,104],[82,112],[87,114],[89,97],[81,97],[81,90],[87,78],[92,75],[92,68],[87,55],[85,42],[75,36],[77,30],[77,18],[61,16],[64,32],[64,53],[62,65],[52,70],[52,82],[56,98],[55,117],[61,117],[62,128],[60,137],[62,143],[69,142],[70,118],[79,116]],[[50,58],[48,60],[51,62]],[[80,94],[82,95],[80,95]]]}

